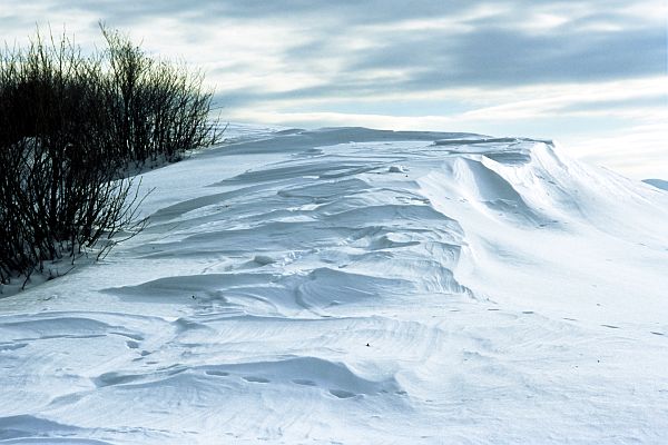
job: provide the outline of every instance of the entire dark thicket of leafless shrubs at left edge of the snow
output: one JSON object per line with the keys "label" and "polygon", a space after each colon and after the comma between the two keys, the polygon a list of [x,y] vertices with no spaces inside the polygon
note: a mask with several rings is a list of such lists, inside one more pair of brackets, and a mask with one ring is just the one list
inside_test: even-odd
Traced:
{"label": "entire dark thicket of leafless shrubs at left edge of the snow", "polygon": [[0,53],[0,283],[137,233],[125,169],[219,138],[200,73],[100,27],[108,48],[92,55],[39,30]]}

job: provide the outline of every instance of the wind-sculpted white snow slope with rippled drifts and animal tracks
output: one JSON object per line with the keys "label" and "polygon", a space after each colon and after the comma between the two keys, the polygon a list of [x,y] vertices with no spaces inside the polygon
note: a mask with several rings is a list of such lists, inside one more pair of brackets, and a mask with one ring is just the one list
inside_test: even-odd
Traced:
{"label": "wind-sculpted white snow slope with rippled drifts and animal tracks", "polygon": [[0,443],[668,442],[668,194],[550,142],[238,126],[0,299]]}

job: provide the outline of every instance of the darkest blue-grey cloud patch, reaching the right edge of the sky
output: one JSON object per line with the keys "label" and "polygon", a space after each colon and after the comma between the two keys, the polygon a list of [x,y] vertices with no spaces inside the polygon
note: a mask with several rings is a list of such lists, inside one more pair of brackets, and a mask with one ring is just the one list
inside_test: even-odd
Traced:
{"label": "darkest blue-grey cloud patch, reaching the right edge of the sky", "polygon": [[662,29],[542,36],[488,29],[430,48],[441,69],[428,69],[414,82],[512,86],[600,81],[661,75],[666,60]]}

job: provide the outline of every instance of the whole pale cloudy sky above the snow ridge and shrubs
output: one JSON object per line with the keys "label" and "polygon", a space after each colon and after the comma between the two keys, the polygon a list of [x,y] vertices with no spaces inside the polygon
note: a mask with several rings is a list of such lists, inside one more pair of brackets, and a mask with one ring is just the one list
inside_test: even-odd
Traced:
{"label": "whole pale cloudy sky above the snow ridge and shrubs", "polygon": [[0,39],[97,22],[202,67],[223,118],[554,139],[668,178],[665,0],[0,0]]}

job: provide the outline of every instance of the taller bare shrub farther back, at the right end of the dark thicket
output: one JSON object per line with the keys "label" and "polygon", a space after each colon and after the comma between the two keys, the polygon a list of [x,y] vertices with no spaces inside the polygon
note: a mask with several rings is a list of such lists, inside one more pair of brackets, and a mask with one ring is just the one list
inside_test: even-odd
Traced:
{"label": "taller bare shrub farther back, at the right end of the dark thicket", "polygon": [[143,162],[163,156],[174,161],[186,150],[218,140],[215,122],[208,119],[213,91],[203,88],[200,72],[153,59],[126,36],[101,29],[117,100],[110,110],[122,158]]}

